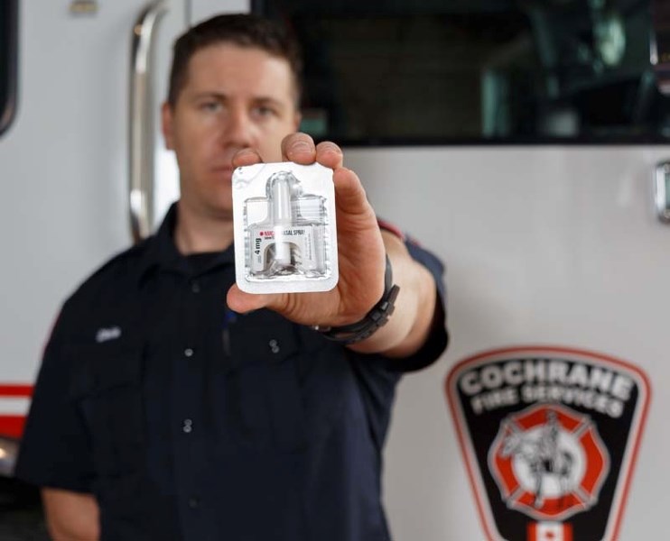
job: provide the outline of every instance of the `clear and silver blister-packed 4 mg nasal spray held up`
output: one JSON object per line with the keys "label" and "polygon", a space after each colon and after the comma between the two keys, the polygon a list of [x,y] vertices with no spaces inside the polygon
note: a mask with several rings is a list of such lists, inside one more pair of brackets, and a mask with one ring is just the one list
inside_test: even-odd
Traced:
{"label": "clear and silver blister-packed 4 mg nasal spray held up", "polygon": [[338,283],[332,170],[258,163],[233,172],[237,287],[247,293],[328,291]]}

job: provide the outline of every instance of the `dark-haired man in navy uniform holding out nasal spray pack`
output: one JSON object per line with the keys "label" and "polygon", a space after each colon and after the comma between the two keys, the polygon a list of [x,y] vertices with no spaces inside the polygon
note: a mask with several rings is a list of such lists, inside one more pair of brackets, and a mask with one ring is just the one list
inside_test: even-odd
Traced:
{"label": "dark-haired man in navy uniform holding out nasal spray pack", "polygon": [[[442,269],[380,231],[335,144],[294,133],[299,71],[293,42],[250,15],[175,44],[163,133],[181,198],[66,302],[26,426],[17,475],[43,487],[54,539],[389,538],[382,445],[400,374],[446,345]],[[233,284],[231,174],[260,160],[334,171],[335,289]]]}

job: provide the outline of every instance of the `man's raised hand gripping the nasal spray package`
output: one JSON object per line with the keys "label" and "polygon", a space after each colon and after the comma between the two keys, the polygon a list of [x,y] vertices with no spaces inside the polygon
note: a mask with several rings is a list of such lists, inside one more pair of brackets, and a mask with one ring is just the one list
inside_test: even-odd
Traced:
{"label": "man's raised hand gripping the nasal spray package", "polygon": [[[282,142],[282,157],[302,165],[316,161],[333,170],[340,280],[334,289],[320,293],[252,295],[233,285],[228,290],[228,307],[236,312],[266,307],[302,325],[355,323],[384,292],[385,248],[375,211],[356,173],[342,166],[343,154],[336,144],[314,146],[309,135],[293,133]],[[260,161],[256,151],[246,149],[237,152],[233,166]]]}

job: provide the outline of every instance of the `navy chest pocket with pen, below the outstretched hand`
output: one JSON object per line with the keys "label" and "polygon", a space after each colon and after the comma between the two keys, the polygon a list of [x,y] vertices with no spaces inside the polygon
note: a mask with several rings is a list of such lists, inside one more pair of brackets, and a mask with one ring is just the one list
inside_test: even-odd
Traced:
{"label": "navy chest pocket with pen, below the outstretched hand", "polygon": [[223,412],[233,440],[284,452],[306,444],[293,324],[268,310],[228,327],[229,364]]}

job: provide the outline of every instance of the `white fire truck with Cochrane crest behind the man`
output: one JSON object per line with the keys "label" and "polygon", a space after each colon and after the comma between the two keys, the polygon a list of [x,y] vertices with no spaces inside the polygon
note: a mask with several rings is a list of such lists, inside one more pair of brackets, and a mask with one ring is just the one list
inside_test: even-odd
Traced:
{"label": "white fire truck with Cochrane crest behind the man", "polygon": [[302,43],[302,130],[446,264],[450,348],[401,381],[386,443],[394,538],[662,536],[667,4],[5,0],[0,474],[63,300],[179,197],[172,41],[253,12]]}

